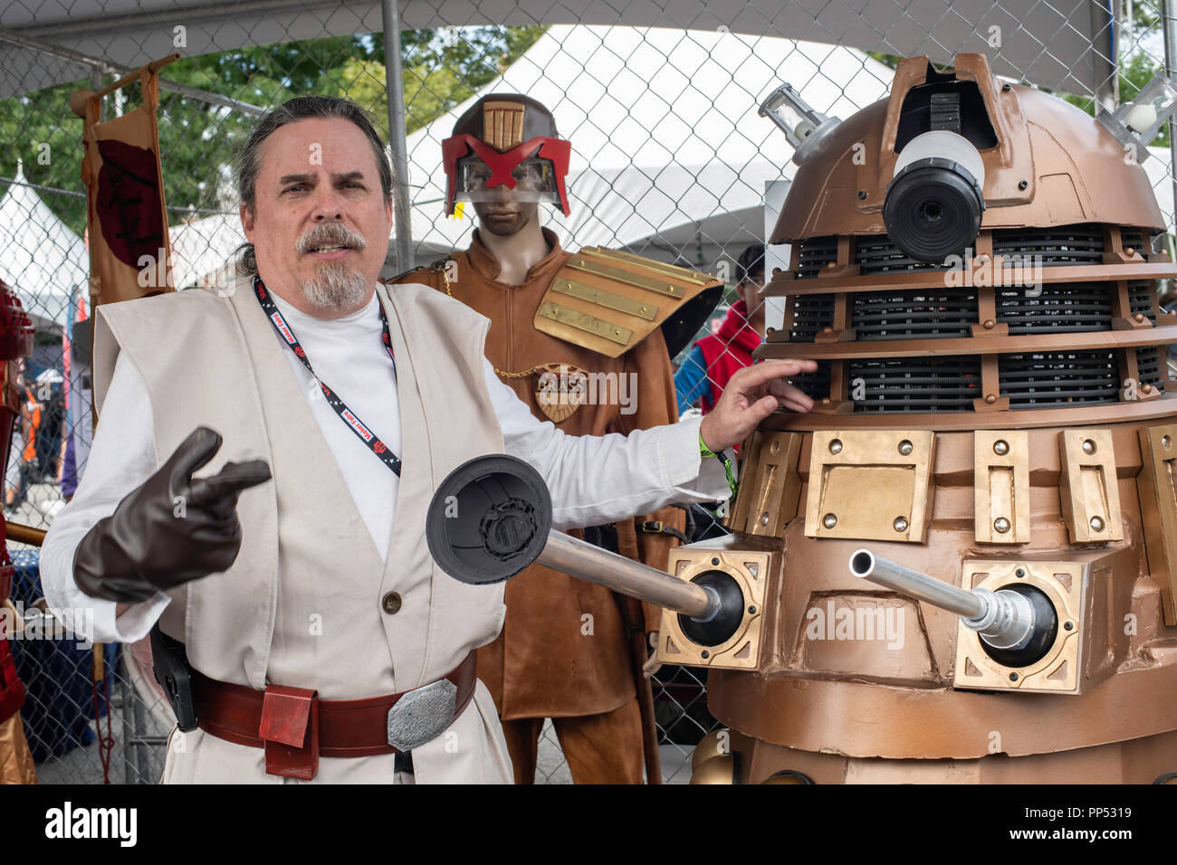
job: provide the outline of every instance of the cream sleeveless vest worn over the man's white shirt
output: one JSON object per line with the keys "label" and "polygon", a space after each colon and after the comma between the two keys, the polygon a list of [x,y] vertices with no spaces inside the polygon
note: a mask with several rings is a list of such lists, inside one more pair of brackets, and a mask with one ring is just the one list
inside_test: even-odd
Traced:
{"label": "cream sleeveless vest worn over the man's white shirt", "polygon": [[[503,623],[503,586],[434,565],[425,513],[455,466],[503,452],[483,370],[488,321],[425,286],[377,286],[397,359],[404,467],[385,561],[372,541],[248,279],[99,307],[94,394],[119,351],[142,375],[161,465],[197,426],[224,444],[198,474],[264,459],[273,481],[241,494],[233,566],[172,592],[162,628],[206,676],[358,699],[445,676]],[[227,294],[227,297],[225,297]],[[388,471],[373,454],[372,471]],[[385,613],[381,598],[401,606]]]}

